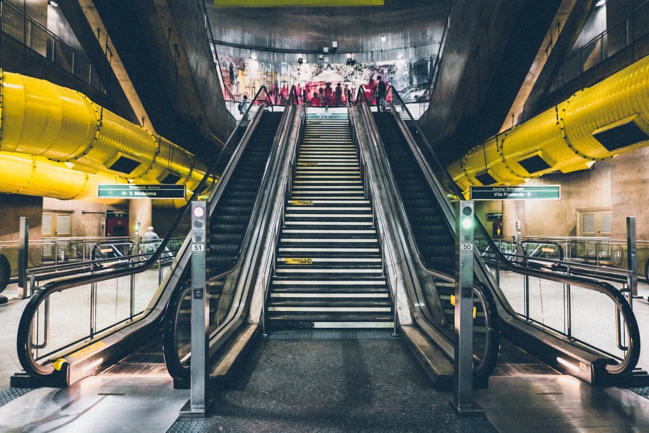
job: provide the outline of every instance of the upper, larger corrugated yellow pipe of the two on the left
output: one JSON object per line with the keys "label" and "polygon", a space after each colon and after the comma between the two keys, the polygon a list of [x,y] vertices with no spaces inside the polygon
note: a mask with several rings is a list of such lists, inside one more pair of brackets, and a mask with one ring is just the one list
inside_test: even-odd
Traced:
{"label": "upper, larger corrugated yellow pipe of the two on the left", "polygon": [[18,73],[0,75],[0,151],[112,172],[140,183],[186,184],[205,174],[191,153],[154,137],[84,94]]}

